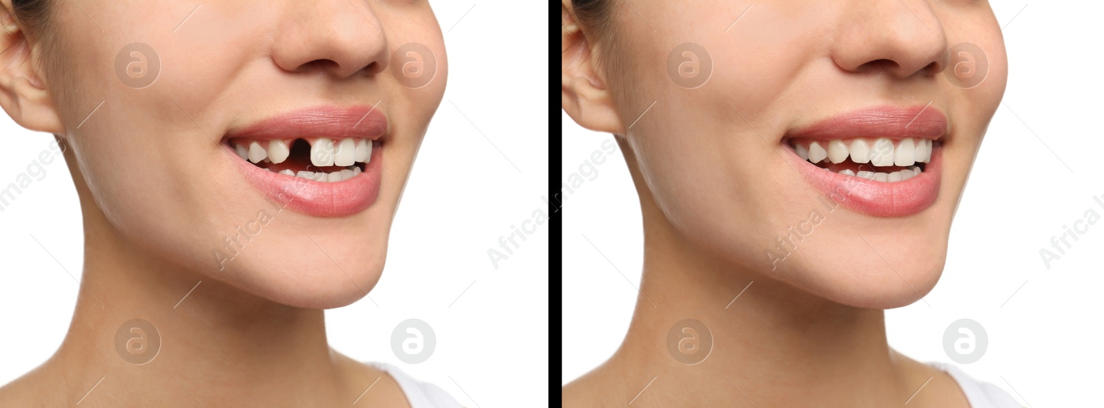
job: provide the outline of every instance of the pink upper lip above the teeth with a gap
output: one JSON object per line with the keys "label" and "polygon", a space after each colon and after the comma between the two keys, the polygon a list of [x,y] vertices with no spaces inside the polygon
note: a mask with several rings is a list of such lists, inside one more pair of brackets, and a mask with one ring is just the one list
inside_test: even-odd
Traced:
{"label": "pink upper lip above the teeth with a gap", "polygon": [[388,116],[374,106],[315,106],[286,112],[232,129],[224,137],[288,139],[327,137],[376,140],[388,133]]}

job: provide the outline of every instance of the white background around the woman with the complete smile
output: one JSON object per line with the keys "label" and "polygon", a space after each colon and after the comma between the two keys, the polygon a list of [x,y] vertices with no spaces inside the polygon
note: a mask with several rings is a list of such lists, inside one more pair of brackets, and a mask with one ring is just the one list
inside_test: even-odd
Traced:
{"label": "white background around the woman with the complete smile", "polygon": [[[944,329],[973,318],[989,346],[980,360],[959,366],[969,375],[1028,407],[1098,406],[1104,222],[1050,270],[1039,250],[1087,209],[1104,216],[1092,199],[1104,195],[1104,3],[991,3],[1005,27],[1008,88],[956,215],[943,278],[925,297],[931,306],[887,312],[890,345],[922,362],[949,363]],[[566,115],[562,122],[566,178],[612,136]],[[620,151],[598,170],[563,206],[563,384],[617,348],[640,283],[640,210]]]}

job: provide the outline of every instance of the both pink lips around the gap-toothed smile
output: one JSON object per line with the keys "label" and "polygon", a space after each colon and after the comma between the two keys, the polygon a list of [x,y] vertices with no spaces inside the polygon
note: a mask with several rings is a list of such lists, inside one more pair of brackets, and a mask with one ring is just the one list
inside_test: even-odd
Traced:
{"label": "both pink lips around the gap-toothed smile", "polygon": [[379,197],[383,149],[386,146],[382,140],[386,129],[386,116],[370,106],[323,106],[275,116],[241,130],[232,130],[223,137],[223,140],[295,137],[359,137],[380,140],[380,144],[373,146],[372,157],[364,165],[364,171],[338,182],[307,180],[265,170],[238,157],[229,143],[223,143],[222,147],[245,179],[282,207],[317,217],[344,217],[371,207]]}

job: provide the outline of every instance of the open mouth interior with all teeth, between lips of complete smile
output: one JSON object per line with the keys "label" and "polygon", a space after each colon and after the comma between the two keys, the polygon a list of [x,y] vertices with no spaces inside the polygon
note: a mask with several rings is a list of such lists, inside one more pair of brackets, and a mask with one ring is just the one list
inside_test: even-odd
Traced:
{"label": "open mouth interior with all teeth, between lips of complete smile", "polygon": [[931,163],[931,139],[851,138],[789,139],[798,157],[827,171],[875,181],[904,181],[924,172]]}

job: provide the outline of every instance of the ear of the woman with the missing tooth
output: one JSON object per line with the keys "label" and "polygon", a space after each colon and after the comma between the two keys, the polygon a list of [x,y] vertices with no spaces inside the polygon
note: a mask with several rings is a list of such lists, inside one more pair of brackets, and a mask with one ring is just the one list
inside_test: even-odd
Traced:
{"label": "ear of the woman with the missing tooth", "polygon": [[[12,12],[11,0],[0,0],[0,107],[31,130],[65,134],[61,115],[43,81],[41,54]],[[39,49],[41,50],[41,49]]]}

